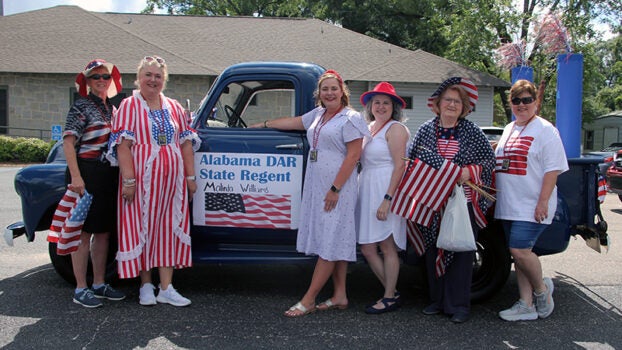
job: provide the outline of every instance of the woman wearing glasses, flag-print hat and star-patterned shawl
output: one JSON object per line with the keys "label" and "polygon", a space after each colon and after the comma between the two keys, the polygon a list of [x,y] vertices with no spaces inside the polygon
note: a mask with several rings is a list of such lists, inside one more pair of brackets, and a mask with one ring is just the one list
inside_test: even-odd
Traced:
{"label": "woman wearing glasses, flag-print hat and star-patterned shawl", "polygon": [[[436,169],[433,176],[442,178],[444,182],[434,187],[435,193],[447,189],[451,193],[456,184],[464,184],[466,181],[491,186],[494,152],[483,131],[466,119],[476,101],[477,87],[470,80],[460,77],[445,80],[428,99],[428,107],[436,117],[425,122],[417,131],[409,158]],[[431,192],[428,191],[428,194]],[[490,203],[468,186],[464,186],[464,192],[472,231],[477,237],[479,229],[486,225],[484,213]],[[423,313],[444,313],[451,315],[452,322],[463,323],[469,319],[471,309],[471,276],[475,252],[453,252],[436,247],[440,213],[431,212],[432,219],[429,222],[419,215],[415,218],[415,241],[422,242],[425,251],[431,301]]]}

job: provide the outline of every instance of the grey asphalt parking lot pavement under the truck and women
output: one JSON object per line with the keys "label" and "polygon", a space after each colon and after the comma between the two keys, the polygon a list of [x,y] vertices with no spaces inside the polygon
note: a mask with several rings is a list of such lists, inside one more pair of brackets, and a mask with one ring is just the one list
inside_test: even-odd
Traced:
{"label": "grey asphalt parking lot pavement under the truck and women", "polygon": [[[21,216],[12,189],[14,170],[0,169],[0,222]],[[282,316],[302,296],[309,265],[195,266],[175,275],[175,287],[192,300],[187,308],[138,304],[137,281],[116,286],[127,300],[100,309],[71,302],[72,286],[49,263],[43,235],[7,247],[0,242],[0,347],[32,349],[621,349],[622,203],[608,195],[603,214],[613,245],[596,253],[581,238],[566,252],[543,257],[555,282],[556,309],[545,320],[507,323],[497,312],[517,298],[512,273],[503,290],[474,305],[472,319],[455,325],[443,315],[425,316],[421,270],[404,266],[396,312],[367,315],[364,305],[382,289],[369,268],[351,265],[350,306],[298,318]],[[327,286],[318,302],[330,296]]]}

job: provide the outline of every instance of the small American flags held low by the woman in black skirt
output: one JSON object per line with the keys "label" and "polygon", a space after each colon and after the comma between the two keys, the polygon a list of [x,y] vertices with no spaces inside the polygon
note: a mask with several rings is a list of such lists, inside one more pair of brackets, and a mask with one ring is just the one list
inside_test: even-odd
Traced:
{"label": "small American flags held low by the woman in black skirt", "polygon": [[[70,194],[70,198],[76,198],[77,193],[69,190],[67,192],[72,192],[72,194]],[[65,197],[63,197],[63,199],[64,198]],[[63,222],[61,232],[58,234],[56,254],[67,255],[78,250],[78,246],[80,245],[80,236],[82,235],[82,226],[84,226],[84,220],[86,220],[86,216],[89,213],[91,202],[93,202],[93,195],[86,191],[84,191],[84,195],[82,197],[73,201],[69,214]],[[65,206],[66,204],[66,202],[61,200],[59,207],[61,205]]]}

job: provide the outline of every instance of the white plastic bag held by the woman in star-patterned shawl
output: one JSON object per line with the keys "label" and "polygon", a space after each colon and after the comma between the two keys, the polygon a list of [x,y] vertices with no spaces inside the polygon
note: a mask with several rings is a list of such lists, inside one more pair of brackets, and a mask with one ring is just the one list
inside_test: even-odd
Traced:
{"label": "white plastic bag held by the woman in star-patterned shawl", "polygon": [[476,250],[467,200],[464,188],[460,185],[454,187],[453,193],[447,200],[436,247],[452,252]]}

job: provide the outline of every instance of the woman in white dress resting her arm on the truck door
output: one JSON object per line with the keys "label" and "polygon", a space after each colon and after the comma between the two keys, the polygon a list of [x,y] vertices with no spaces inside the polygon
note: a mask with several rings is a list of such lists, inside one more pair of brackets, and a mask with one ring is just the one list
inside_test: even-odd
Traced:
{"label": "woman in white dress resting her arm on the truck door", "polygon": [[[350,108],[350,92],[341,76],[328,70],[318,81],[317,108],[299,117],[267,120],[251,127],[306,130],[311,147],[302,193],[296,249],[318,257],[311,284],[298,303],[285,311],[299,317],[316,310],[345,309],[348,262],[356,260],[358,196],[356,164],[369,133],[360,113]],[[316,305],[329,278],[333,295]]]}

